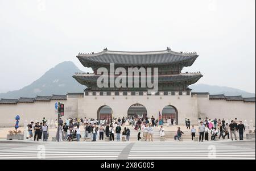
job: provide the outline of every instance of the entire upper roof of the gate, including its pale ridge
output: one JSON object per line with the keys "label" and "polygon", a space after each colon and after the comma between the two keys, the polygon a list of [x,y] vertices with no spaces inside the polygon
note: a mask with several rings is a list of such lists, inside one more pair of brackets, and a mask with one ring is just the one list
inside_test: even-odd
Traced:
{"label": "entire upper roof of the gate, including its pale ridge", "polygon": [[196,52],[183,53],[174,52],[167,48],[165,51],[148,51],[148,52],[125,52],[125,51],[108,51],[104,49],[98,53],[79,53],[77,58],[82,65],[90,67],[93,64],[109,65],[170,65],[182,63],[183,66],[191,66],[198,57]]}

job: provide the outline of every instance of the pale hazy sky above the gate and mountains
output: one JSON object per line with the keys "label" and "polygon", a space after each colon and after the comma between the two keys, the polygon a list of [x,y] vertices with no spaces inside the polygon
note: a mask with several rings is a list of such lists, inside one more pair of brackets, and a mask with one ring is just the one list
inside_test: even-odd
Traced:
{"label": "pale hazy sky above the gate and mountains", "polygon": [[79,52],[199,55],[198,83],[255,93],[255,0],[0,0],[0,92],[20,89]]}

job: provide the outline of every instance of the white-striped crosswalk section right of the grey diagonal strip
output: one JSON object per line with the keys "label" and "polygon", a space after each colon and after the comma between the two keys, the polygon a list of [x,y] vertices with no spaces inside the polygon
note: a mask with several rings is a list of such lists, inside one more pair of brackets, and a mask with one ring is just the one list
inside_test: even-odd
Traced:
{"label": "white-striped crosswalk section right of the grey diagonal strip", "polygon": [[[165,145],[161,148],[133,148],[128,159],[236,159],[255,160],[255,149],[241,149],[232,146],[210,147],[209,145]],[[190,146],[190,147],[189,147]]]}

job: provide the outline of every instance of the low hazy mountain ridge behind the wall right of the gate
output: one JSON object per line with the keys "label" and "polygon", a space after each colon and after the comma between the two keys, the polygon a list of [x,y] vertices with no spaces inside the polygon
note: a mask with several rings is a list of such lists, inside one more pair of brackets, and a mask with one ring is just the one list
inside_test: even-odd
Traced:
{"label": "low hazy mountain ridge behind the wall right of the gate", "polygon": [[192,92],[209,92],[210,94],[225,94],[225,95],[242,95],[242,97],[255,97],[254,93],[249,93],[240,89],[225,86],[213,86],[207,84],[195,84],[189,86]]}

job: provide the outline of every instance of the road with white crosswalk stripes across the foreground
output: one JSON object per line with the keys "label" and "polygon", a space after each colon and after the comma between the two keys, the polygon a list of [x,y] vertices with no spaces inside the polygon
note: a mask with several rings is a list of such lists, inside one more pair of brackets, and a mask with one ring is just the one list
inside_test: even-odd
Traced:
{"label": "road with white crosswalk stripes across the foreground", "polygon": [[255,140],[0,143],[0,159],[253,159]]}

